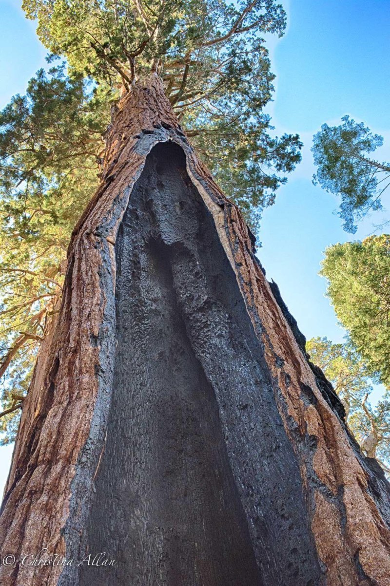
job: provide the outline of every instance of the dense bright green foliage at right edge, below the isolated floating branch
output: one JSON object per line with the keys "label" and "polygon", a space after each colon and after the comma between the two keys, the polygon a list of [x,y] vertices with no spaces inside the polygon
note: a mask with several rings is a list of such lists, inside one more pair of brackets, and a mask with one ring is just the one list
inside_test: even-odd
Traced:
{"label": "dense bright green foliage at right edge, below the isolated floating branch", "polygon": [[337,318],[371,376],[390,388],[390,236],[327,248],[321,275]]}

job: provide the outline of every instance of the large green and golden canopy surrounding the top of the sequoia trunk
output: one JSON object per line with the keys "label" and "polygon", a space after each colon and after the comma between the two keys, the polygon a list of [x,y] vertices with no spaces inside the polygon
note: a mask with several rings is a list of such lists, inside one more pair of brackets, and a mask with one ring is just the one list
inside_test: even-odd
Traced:
{"label": "large green and golden canopy surrounding the top of the sequoia trunk", "polygon": [[4,441],[57,311],[67,244],[99,183],[123,88],[161,76],[182,127],[252,227],[301,156],[299,137],[275,137],[264,113],[274,79],[264,34],[286,26],[274,0],[25,0],[23,9],[53,67],[0,114]]}

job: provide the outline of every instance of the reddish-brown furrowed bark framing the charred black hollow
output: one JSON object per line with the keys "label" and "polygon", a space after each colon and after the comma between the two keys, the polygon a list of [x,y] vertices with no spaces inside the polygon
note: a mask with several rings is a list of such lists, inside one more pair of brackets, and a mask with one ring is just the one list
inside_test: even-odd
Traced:
{"label": "reddish-brown furrowed bark framing the charred black hollow", "polygon": [[[389,586],[386,495],[372,488],[368,465],[325,401],[253,255],[242,215],[189,145],[157,75],[121,100],[106,139],[104,179],[74,230],[62,307],[23,406],[2,506],[2,552],[18,558],[45,546],[67,557],[80,554],[112,382],[114,244],[148,152],[158,141],[172,140],[185,152],[188,175],[212,214],[264,347],[275,401],[299,461],[321,584]],[[61,570],[2,566],[0,577],[4,585],[55,585]]]}

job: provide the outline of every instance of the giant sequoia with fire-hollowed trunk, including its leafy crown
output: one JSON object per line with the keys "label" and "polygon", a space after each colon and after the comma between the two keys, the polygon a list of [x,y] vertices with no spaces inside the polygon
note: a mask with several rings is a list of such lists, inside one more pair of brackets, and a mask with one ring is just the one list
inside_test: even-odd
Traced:
{"label": "giant sequoia with fire-hollowed trunk, including its leafy crown", "polygon": [[[348,434],[242,214],[202,161],[250,210],[299,157],[297,138],[270,138],[261,114],[271,78],[259,32],[282,30],[283,11],[271,0],[238,6],[25,2],[74,77],[59,80],[64,122],[42,142],[29,105],[15,102],[28,124],[5,132],[9,230],[33,239],[30,216],[67,182],[77,199],[79,161],[88,179],[99,159],[101,182],[58,271],[60,306],[57,274],[42,273],[53,308],[0,528],[16,560],[47,547],[76,563],[16,561],[0,568],[2,584],[389,583],[388,484]],[[85,74],[100,84],[96,110]],[[118,81],[101,154],[94,133]],[[31,197],[39,212],[27,212]],[[116,567],[77,565],[98,551]]]}

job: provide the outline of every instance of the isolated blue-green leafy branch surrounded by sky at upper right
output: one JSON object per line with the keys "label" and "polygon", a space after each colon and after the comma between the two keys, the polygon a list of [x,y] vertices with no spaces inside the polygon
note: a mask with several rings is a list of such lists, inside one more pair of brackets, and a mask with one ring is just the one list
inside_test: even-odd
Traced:
{"label": "isolated blue-green leafy branch surrounded by sky at upper right", "polygon": [[368,157],[382,146],[381,136],[349,116],[341,120],[340,126],[323,124],[313,137],[311,151],[317,166],[313,183],[341,196],[339,216],[344,230],[354,234],[357,220],[369,210],[381,209],[380,197],[390,184],[390,164]]}

